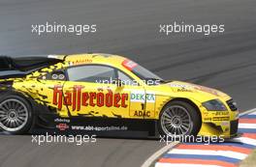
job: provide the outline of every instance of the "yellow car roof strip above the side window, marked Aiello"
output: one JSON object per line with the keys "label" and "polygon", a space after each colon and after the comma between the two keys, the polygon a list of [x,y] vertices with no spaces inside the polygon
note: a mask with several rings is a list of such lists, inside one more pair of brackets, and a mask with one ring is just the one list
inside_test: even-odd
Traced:
{"label": "yellow car roof strip above the side window, marked Aiello", "polygon": [[126,58],[113,54],[106,53],[83,53],[67,55],[65,57],[65,62],[73,65],[80,64],[109,64],[109,65],[121,65]]}

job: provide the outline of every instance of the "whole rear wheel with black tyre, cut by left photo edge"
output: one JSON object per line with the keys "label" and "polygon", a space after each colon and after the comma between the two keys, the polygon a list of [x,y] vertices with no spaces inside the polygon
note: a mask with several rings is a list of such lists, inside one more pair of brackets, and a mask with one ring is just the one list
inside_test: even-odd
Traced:
{"label": "whole rear wheel with black tyre, cut by left photo edge", "polygon": [[32,124],[32,109],[23,98],[10,95],[0,99],[0,127],[5,132],[20,134],[27,132]]}

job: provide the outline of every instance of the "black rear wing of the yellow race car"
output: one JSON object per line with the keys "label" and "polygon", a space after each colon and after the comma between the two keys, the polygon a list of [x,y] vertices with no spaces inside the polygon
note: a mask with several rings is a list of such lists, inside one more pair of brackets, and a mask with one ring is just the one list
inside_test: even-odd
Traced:
{"label": "black rear wing of the yellow race car", "polygon": [[64,56],[0,56],[0,79],[22,77],[34,70],[39,70],[64,61]]}

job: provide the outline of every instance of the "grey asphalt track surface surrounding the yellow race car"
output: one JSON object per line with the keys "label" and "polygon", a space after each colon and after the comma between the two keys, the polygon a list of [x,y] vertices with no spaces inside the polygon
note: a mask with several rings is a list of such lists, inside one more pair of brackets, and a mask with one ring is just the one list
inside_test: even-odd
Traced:
{"label": "grey asphalt track surface surrounding the yellow race car", "polygon": [[[244,111],[256,107],[255,0],[1,0],[0,53],[116,53],[163,78],[220,89]],[[96,34],[31,34],[31,24],[97,24]],[[225,24],[225,33],[159,33],[159,24]],[[0,136],[0,166],[140,166],[163,145],[98,139],[83,146],[37,146],[31,136]]]}

